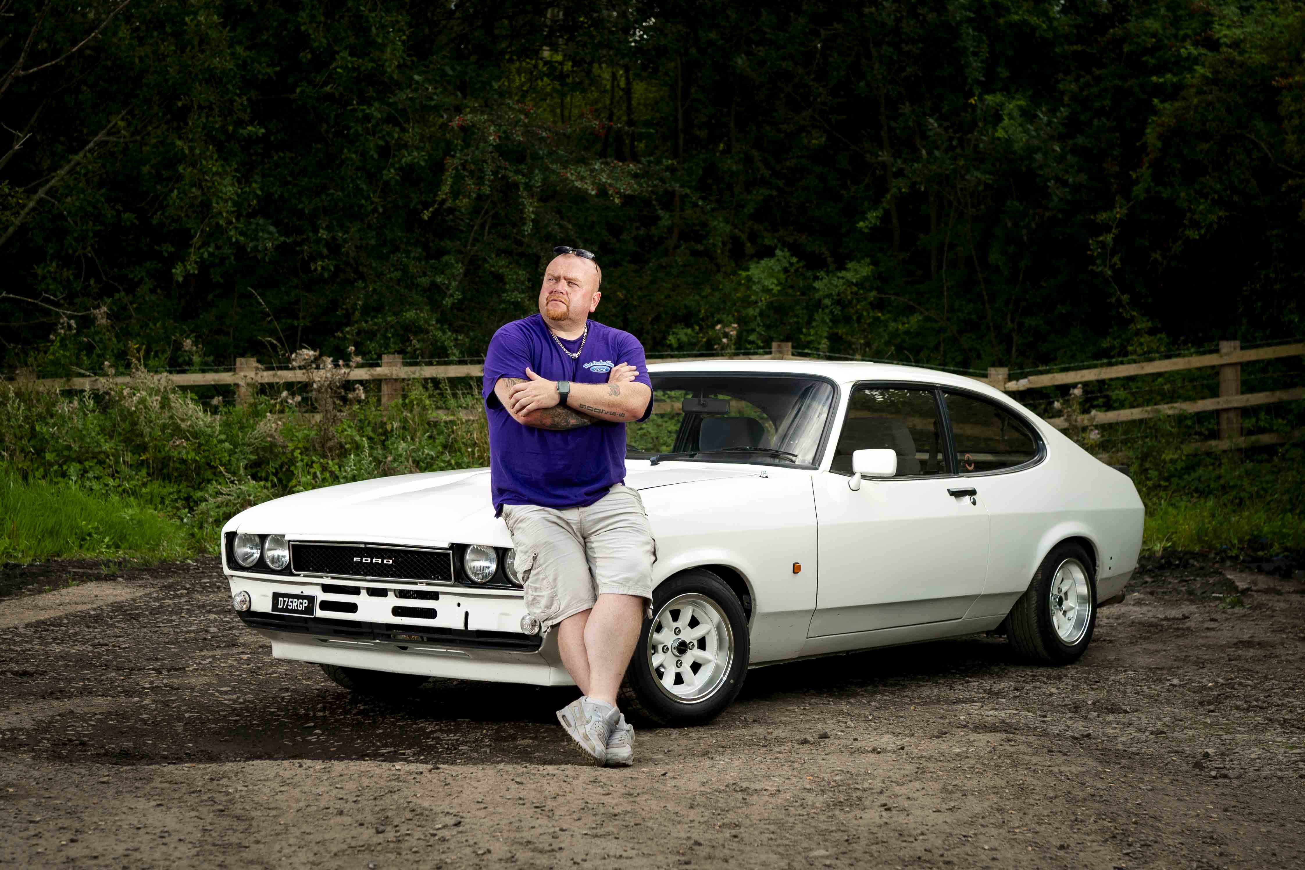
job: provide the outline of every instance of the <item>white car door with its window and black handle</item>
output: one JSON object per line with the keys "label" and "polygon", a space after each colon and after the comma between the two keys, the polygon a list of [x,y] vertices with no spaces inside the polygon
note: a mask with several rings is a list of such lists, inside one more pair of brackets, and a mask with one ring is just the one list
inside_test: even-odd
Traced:
{"label": "white car door with its window and black handle", "polygon": [[[852,451],[889,447],[894,477],[848,487]],[[859,383],[816,475],[818,584],[808,637],[959,620],[983,593],[988,513],[954,476],[937,390]]]}

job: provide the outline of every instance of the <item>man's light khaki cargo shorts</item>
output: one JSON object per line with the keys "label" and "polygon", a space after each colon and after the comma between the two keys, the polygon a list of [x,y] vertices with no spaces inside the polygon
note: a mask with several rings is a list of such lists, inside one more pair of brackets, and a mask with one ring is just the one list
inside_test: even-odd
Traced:
{"label": "man's light khaki cargo shorts", "polygon": [[504,505],[526,609],[547,633],[599,595],[637,595],[652,617],[652,527],[637,489],[616,484],[587,507]]}

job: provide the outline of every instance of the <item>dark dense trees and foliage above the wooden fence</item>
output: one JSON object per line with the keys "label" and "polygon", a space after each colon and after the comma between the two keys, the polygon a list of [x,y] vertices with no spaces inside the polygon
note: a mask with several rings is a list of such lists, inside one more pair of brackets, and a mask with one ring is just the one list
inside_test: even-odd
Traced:
{"label": "dark dense trees and foliage above the wooden fence", "polygon": [[658,350],[1305,331],[1300,1],[0,12],[9,368],[478,356],[562,243]]}

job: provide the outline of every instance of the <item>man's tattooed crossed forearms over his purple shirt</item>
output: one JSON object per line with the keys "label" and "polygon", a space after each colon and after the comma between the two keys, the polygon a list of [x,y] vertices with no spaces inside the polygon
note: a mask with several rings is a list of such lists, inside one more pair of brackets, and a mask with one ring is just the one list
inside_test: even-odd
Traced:
{"label": "man's tattooed crossed forearms over his purple shirt", "polygon": [[652,390],[634,380],[637,373],[633,365],[621,363],[612,369],[607,383],[572,381],[565,406],[557,403],[557,381],[543,378],[529,368],[523,378],[499,378],[493,393],[513,420],[535,429],[578,429],[595,420],[628,423],[643,416],[652,398]]}

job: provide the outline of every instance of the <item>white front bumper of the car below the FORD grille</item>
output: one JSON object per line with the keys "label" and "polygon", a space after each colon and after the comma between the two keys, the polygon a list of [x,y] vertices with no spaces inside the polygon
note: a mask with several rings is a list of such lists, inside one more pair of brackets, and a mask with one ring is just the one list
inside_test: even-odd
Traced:
{"label": "white front bumper of the car below the FORD grille", "polygon": [[[526,607],[518,591],[239,573],[228,573],[227,580],[231,595],[249,595],[251,608],[239,613],[240,620],[271,640],[277,659],[455,680],[572,685],[556,633],[547,638],[521,633]],[[273,591],[316,596],[316,616],[271,613]],[[414,593],[423,597],[407,597]]]}

